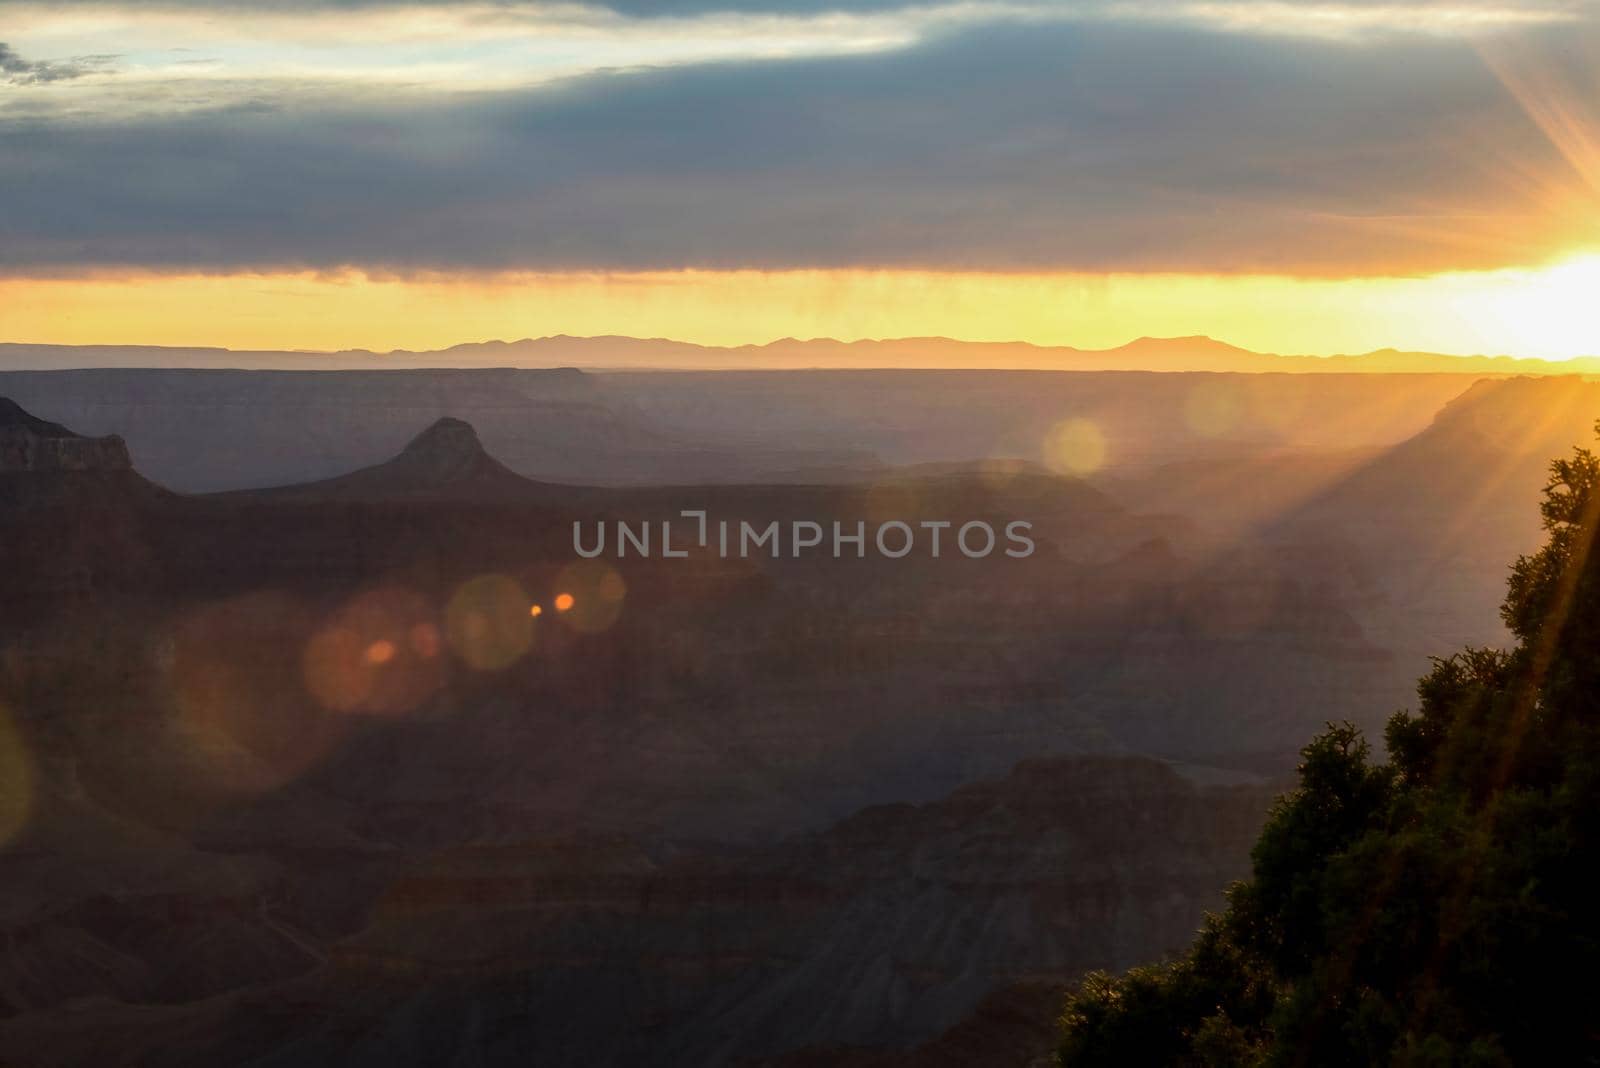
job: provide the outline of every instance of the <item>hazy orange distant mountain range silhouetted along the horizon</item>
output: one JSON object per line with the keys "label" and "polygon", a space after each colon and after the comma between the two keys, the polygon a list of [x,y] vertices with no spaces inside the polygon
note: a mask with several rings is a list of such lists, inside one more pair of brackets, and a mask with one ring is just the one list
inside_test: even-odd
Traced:
{"label": "hazy orange distant mountain range silhouetted along the horizon", "polygon": [[163,345],[0,344],[0,369],[62,368],[595,368],[595,369],[1034,369],[1034,371],[1234,371],[1381,374],[1600,374],[1600,357],[1525,360],[1451,357],[1379,349],[1360,355],[1278,355],[1238,349],[1211,337],[1139,337],[1115,349],[973,342],[949,337],[835,341],[784,337],[765,345],[696,345],[666,337],[523,337],[413,352],[278,352]]}

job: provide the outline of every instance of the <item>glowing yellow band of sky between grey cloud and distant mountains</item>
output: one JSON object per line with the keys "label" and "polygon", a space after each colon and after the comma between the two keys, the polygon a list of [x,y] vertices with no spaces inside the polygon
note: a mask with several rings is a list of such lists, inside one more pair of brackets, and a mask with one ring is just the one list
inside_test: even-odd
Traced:
{"label": "glowing yellow band of sky between grey cloud and distant mountains", "polygon": [[1600,355],[1600,254],[1418,278],[730,270],[94,275],[0,280],[0,341],[230,349],[443,349],[629,334],[1029,341],[1106,349],[1210,334],[1261,352]]}

